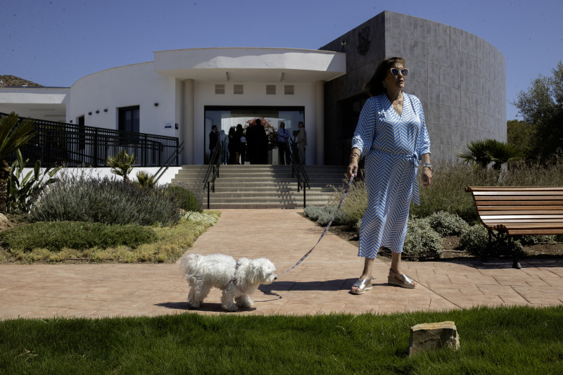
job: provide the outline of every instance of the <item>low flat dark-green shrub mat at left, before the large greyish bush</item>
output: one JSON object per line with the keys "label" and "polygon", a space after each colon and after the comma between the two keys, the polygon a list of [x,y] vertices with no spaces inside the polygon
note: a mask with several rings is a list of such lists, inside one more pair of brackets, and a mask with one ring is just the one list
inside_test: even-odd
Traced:
{"label": "low flat dark-green shrub mat at left, before the large greyish bush", "polygon": [[137,248],[141,243],[153,243],[156,239],[155,231],[148,227],[98,222],[36,222],[0,232],[0,240],[6,246],[25,251],[35,248],[85,250],[121,245]]}

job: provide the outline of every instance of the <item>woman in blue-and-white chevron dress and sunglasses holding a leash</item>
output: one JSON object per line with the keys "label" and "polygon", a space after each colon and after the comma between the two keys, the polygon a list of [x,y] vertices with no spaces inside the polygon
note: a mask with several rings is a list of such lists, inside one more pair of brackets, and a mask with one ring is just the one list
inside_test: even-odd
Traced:
{"label": "woman in blue-and-white chevron dress and sunglasses holding a leash", "polygon": [[407,233],[410,201],[419,204],[417,171],[422,160],[422,184],[432,181],[430,139],[419,99],[403,92],[408,69],[403,58],[382,61],[365,90],[367,99],[352,141],[348,178],[358,173],[365,155],[367,210],[360,227],[358,256],[364,257],[362,276],[352,293],[372,288],[372,267],[379,248],[391,250],[388,284],[415,288],[417,283],[403,274],[400,254]]}

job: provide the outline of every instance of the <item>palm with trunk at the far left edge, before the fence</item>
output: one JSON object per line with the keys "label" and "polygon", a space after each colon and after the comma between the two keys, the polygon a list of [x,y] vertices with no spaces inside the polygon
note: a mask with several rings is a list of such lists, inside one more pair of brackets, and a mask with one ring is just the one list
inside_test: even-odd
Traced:
{"label": "palm with trunk at the far left edge, before the fence", "polygon": [[28,118],[20,121],[15,112],[0,119],[0,213],[6,213],[10,165],[6,160],[11,153],[27,144],[35,135],[35,122]]}

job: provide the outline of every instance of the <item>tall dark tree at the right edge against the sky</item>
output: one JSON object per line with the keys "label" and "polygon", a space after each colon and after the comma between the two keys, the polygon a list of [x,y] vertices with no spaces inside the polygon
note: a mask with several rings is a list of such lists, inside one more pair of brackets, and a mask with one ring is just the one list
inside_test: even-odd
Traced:
{"label": "tall dark tree at the right edge against the sky", "polygon": [[514,106],[533,128],[532,153],[546,160],[563,147],[563,63],[552,76],[539,75],[528,91],[520,91]]}

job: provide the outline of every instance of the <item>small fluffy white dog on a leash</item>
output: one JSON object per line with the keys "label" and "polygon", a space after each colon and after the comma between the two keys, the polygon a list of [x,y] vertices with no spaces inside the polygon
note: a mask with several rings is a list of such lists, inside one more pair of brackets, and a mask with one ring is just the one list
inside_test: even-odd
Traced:
{"label": "small fluffy white dog on a leash", "polygon": [[272,284],[277,279],[276,267],[266,258],[241,258],[237,262],[223,254],[188,254],[180,268],[189,284],[188,303],[194,309],[201,306],[213,286],[223,291],[221,307],[224,310],[251,307],[254,302],[249,295],[260,284]]}

